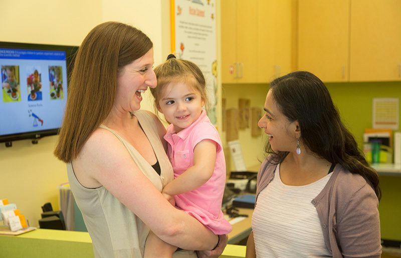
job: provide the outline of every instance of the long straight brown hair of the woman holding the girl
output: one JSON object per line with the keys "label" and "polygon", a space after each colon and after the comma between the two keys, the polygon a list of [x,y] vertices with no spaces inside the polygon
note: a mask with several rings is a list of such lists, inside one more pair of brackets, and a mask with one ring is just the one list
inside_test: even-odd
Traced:
{"label": "long straight brown hair of the woman holding the girl", "polygon": [[139,29],[108,21],[94,27],[79,47],[68,85],[67,106],[54,154],[64,162],[82,146],[111,111],[119,71],[152,48]]}

